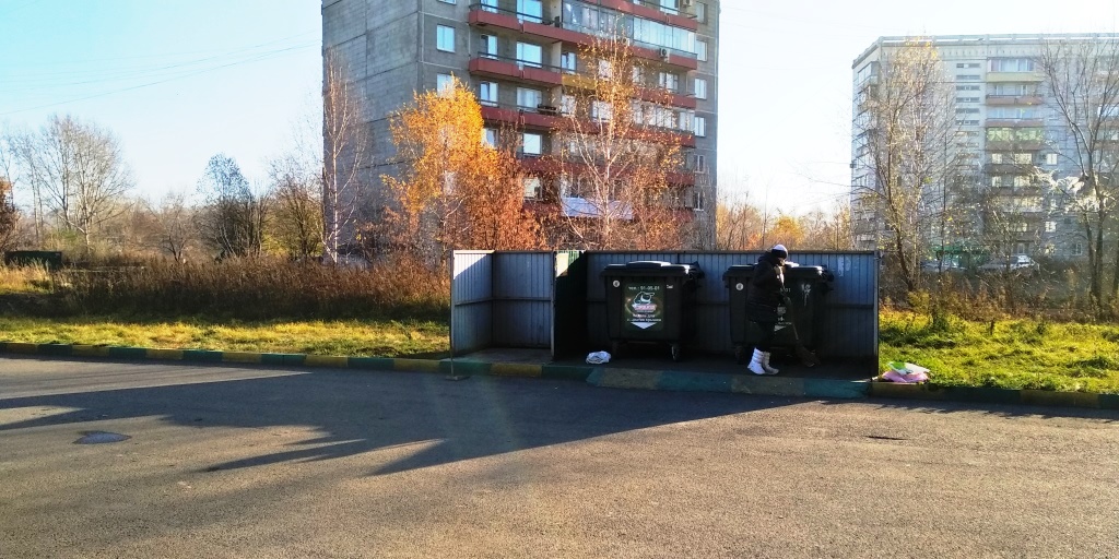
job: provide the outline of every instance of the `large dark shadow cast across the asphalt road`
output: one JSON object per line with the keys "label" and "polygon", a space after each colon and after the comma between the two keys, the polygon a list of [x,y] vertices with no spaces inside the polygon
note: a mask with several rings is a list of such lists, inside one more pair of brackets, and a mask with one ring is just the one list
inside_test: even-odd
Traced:
{"label": "large dark shadow cast across the asphalt road", "polygon": [[384,475],[799,401],[803,400],[603,389],[566,380],[473,377],[451,381],[436,373],[323,369],[312,373],[0,399],[0,410],[74,408],[65,414],[0,425],[0,433],[154,416],[173,425],[201,429],[305,426],[323,434],[301,440],[291,449],[215,462],[200,468],[201,472],[326,461],[402,446],[417,448],[372,472]]}

